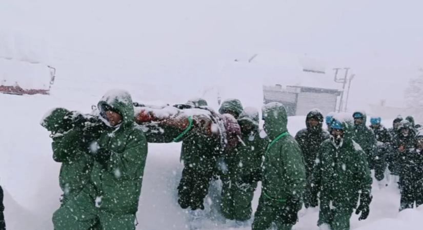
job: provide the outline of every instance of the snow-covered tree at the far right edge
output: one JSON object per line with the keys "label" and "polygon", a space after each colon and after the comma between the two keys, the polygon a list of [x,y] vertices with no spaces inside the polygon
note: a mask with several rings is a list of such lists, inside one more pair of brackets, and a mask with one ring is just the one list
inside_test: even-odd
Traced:
{"label": "snow-covered tree at the far right edge", "polygon": [[405,91],[406,105],[418,123],[423,121],[423,68],[419,71],[419,76],[410,79]]}

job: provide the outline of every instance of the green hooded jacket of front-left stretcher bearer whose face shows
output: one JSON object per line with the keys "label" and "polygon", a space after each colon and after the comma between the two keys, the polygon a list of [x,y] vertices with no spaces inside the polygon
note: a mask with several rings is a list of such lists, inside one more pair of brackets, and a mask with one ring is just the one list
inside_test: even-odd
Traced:
{"label": "green hooded jacket of front-left stretcher bearer whose face shows", "polygon": [[[117,111],[123,121],[100,135],[99,148],[108,152],[110,158],[104,163],[94,163],[91,181],[97,196],[101,197],[100,209],[109,213],[134,214],[138,209],[146,164],[147,140],[134,123],[132,99],[126,91],[109,91],[98,102],[100,119],[108,125],[104,118],[106,107]],[[97,154],[103,151],[97,151]]]}

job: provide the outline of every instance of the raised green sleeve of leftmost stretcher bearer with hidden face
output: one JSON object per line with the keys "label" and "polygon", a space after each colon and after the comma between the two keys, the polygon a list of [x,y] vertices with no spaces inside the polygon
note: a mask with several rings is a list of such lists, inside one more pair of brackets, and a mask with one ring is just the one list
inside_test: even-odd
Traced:
{"label": "raised green sleeve of leftmost stretcher bearer with hidden face", "polygon": [[79,142],[82,139],[82,131],[78,129],[71,129],[62,137],[55,137],[51,143],[53,149],[53,159],[55,162],[69,162],[75,159],[80,151]]}

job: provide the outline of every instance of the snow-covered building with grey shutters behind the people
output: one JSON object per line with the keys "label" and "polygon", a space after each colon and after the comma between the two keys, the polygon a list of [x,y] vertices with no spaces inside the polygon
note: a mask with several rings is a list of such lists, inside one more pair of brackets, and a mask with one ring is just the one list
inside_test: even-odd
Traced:
{"label": "snow-covered building with grey shutters behind the people", "polygon": [[290,116],[306,115],[313,108],[324,114],[335,111],[342,85],[334,81],[333,72],[326,72],[323,61],[274,51],[239,56],[244,58],[227,63],[221,71],[221,96],[231,95],[255,107],[280,102]]}

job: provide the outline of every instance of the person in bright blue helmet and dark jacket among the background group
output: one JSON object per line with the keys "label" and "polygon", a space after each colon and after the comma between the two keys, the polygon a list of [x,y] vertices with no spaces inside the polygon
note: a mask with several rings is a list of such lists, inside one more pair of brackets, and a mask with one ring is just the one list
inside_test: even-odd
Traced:
{"label": "person in bright blue helmet and dark jacket among the background group", "polygon": [[381,124],[382,119],[375,117],[370,119],[370,128],[373,130],[377,141],[377,151],[374,158],[375,178],[380,181],[385,177],[386,158],[391,151],[392,138],[385,126]]}

